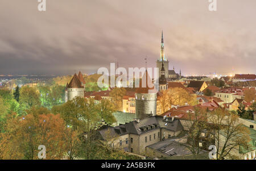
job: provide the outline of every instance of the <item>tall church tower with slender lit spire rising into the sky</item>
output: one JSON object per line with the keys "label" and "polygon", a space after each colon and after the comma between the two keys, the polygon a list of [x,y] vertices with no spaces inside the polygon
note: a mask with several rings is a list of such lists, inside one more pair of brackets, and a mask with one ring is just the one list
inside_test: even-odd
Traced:
{"label": "tall church tower with slender lit spire rising into the sky", "polygon": [[169,61],[167,57],[164,55],[164,41],[163,41],[163,31],[162,31],[162,40],[161,40],[161,51],[160,51],[160,57],[156,61],[156,67],[159,68],[159,77],[161,76],[161,68],[162,64],[164,64],[164,77],[168,78],[169,75]]}

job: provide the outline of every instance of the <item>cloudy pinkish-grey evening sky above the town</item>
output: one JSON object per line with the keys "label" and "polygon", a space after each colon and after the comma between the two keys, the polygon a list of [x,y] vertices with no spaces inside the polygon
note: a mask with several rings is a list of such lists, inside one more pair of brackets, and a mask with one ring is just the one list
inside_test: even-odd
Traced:
{"label": "cloudy pinkish-grey evening sky above the town", "polygon": [[256,1],[37,0],[0,2],[0,74],[94,73],[110,62],[155,67],[164,32],[170,68],[256,73]]}

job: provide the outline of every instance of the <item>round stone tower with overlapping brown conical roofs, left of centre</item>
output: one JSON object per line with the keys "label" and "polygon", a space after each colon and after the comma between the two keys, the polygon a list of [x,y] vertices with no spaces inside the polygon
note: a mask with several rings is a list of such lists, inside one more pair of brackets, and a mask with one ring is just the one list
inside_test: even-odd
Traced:
{"label": "round stone tower with overlapping brown conical roofs, left of centre", "polygon": [[67,84],[65,89],[65,102],[71,101],[75,97],[84,98],[85,81],[82,77],[82,73],[79,72],[79,76],[75,73],[72,80]]}

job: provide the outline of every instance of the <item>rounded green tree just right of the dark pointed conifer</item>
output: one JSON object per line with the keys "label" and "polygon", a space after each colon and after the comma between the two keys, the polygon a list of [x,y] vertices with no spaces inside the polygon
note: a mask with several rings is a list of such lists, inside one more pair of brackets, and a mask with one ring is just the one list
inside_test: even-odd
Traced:
{"label": "rounded green tree just right of the dark pointed conifer", "polygon": [[20,105],[23,109],[30,109],[32,106],[40,105],[39,92],[34,87],[23,86],[20,89]]}

